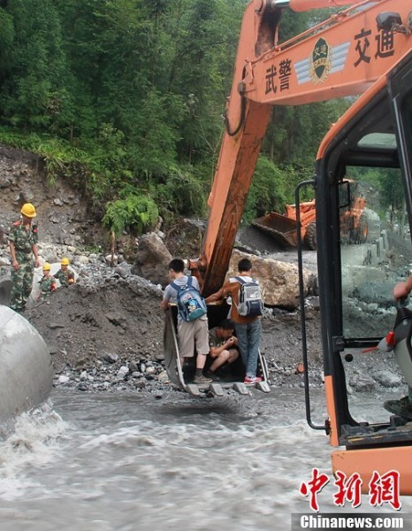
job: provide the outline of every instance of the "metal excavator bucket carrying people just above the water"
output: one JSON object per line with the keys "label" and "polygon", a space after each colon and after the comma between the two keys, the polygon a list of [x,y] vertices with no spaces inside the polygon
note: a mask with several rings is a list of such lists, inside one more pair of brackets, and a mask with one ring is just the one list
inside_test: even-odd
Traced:
{"label": "metal excavator bucket carrying people just above the water", "polygon": [[[211,309],[213,312],[215,308]],[[210,311],[210,308],[209,308]],[[226,313],[227,314],[227,310]],[[244,372],[242,367],[234,366],[231,375],[225,377],[222,381],[213,381],[211,383],[196,384],[193,383],[195,376],[195,357],[188,358],[189,363],[185,366],[181,366],[179,358],[179,343],[177,339],[176,328],[176,315],[177,310],[175,306],[171,306],[170,309],[165,312],[164,319],[164,366],[166,368],[169,380],[171,383],[187,391],[193,396],[224,396],[225,392],[233,389],[240,393],[240,395],[249,395],[250,388],[254,387],[268,393],[271,388],[268,383],[268,367],[266,360],[261,353],[259,353],[258,371],[263,378],[263,381],[251,385],[245,385],[243,383]],[[213,322],[213,318],[210,319]],[[240,360],[237,360],[240,362]],[[234,364],[233,364],[234,365]]]}

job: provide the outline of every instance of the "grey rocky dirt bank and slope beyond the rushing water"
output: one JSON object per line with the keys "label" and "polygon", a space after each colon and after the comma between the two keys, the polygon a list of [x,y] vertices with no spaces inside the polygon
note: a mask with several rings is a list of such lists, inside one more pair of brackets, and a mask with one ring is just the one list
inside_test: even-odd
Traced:
{"label": "grey rocky dirt bank and slope beyond the rushing water", "polygon": [[[161,395],[170,388],[163,364],[164,314],[159,309],[162,286],[150,275],[143,278],[132,273],[136,271],[135,264],[127,262],[126,246],[118,248],[111,266],[107,242],[104,243],[98,224],[90,219],[88,205],[80,193],[65,182],[57,182],[57,187],[50,189],[37,158],[19,156],[16,150],[0,150],[0,170],[0,275],[10,273],[6,235],[12,220],[19,217],[21,194],[38,207],[42,260],[54,263],[68,257],[78,273],[76,284],[57,289],[46,301],[35,302],[25,315],[50,349],[55,386],[86,392],[129,390]],[[180,251],[180,256],[193,255],[203,227],[202,223],[182,220],[179,227],[164,231],[164,244],[173,256]],[[248,227],[240,230],[238,248],[258,258],[296,263],[295,250],[279,250]],[[305,266],[312,275],[316,273],[316,253],[308,255]],[[322,387],[319,308],[317,296],[313,296],[316,290],[311,293],[305,309],[309,382]],[[271,385],[301,387],[301,314],[277,305],[275,299],[272,304],[263,317],[261,343]],[[347,363],[347,382],[349,390],[403,386],[390,353],[364,354],[354,363]]]}

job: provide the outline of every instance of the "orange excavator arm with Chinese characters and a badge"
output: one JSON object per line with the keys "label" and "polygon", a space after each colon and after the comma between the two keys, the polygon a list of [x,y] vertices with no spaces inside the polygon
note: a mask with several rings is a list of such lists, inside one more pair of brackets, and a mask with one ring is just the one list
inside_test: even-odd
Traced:
{"label": "orange excavator arm with Chinese characters and a badge", "polygon": [[[278,43],[282,9],[352,5]],[[233,243],[273,104],[361,94],[408,53],[411,7],[404,0],[254,0],[240,29],[226,132],[210,192],[209,223],[197,262],[204,296],[225,280]]]}

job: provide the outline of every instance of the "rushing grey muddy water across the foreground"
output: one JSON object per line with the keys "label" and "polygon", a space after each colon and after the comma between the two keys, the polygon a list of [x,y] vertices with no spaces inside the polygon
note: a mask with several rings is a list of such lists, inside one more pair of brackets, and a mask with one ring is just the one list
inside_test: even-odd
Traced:
{"label": "rushing grey muddy water across the foreground", "polygon": [[[320,391],[313,404],[320,423]],[[0,442],[0,529],[290,529],[292,512],[309,512],[301,481],[313,467],[331,474],[328,439],[304,418],[301,389],[210,399],[54,391]],[[337,511],[332,492],[318,497],[322,512]],[[362,512],[367,504],[362,496]]]}

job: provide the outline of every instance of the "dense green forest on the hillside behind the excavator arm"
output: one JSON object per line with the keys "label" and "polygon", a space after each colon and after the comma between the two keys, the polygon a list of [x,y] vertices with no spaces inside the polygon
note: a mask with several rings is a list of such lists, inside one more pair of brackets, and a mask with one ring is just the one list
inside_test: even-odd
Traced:
{"label": "dense green forest on the hillside behind the excavator arm", "polygon": [[[116,233],[205,215],[247,0],[0,0],[0,142],[44,158]],[[285,10],[280,41],[326,12]],[[276,107],[245,219],[294,201],[337,100]]]}

